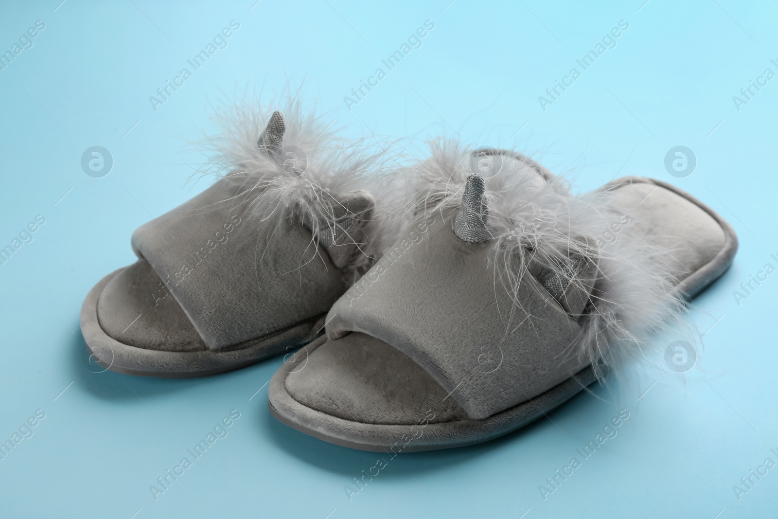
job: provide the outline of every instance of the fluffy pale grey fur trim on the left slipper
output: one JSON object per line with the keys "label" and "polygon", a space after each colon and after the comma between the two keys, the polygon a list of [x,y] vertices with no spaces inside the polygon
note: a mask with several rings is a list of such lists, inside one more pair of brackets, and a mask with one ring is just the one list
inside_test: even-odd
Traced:
{"label": "fluffy pale grey fur trim on the left slipper", "polygon": [[[286,131],[280,153],[268,153],[258,139],[275,110],[282,112]],[[345,281],[352,284],[394,242],[399,230],[394,215],[405,192],[388,173],[383,143],[338,138],[331,128],[334,117],[303,110],[294,93],[268,106],[256,99],[237,100],[215,113],[212,120],[220,132],[202,143],[213,154],[213,165],[205,173],[229,179],[239,192],[237,202],[247,203],[251,216],[268,222],[268,232],[279,233],[291,221],[307,226],[311,255],[302,263],[320,254],[317,237],[346,233],[346,241],[359,244],[342,268]],[[352,237],[344,201],[360,190],[372,195],[375,207],[357,215],[363,218],[361,233]]]}

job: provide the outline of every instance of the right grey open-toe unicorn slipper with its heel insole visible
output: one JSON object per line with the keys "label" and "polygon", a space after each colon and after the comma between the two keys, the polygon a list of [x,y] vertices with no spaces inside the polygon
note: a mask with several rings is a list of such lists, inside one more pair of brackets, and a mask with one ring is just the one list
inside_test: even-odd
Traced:
{"label": "right grey open-toe unicorn slipper with its heel insole visible", "polygon": [[642,357],[738,247],[661,181],[573,196],[521,161],[474,171],[450,144],[413,168],[415,220],[272,377],[282,423],[366,451],[502,436]]}

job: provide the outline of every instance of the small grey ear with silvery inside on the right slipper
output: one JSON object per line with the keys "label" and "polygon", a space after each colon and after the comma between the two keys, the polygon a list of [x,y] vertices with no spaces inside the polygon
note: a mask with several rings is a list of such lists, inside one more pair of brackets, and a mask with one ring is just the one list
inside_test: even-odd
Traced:
{"label": "small grey ear with silvery inside on the right slipper", "polygon": [[584,314],[599,275],[597,241],[579,237],[576,242],[562,258],[550,258],[545,265],[535,261],[530,268],[543,288],[575,318]]}

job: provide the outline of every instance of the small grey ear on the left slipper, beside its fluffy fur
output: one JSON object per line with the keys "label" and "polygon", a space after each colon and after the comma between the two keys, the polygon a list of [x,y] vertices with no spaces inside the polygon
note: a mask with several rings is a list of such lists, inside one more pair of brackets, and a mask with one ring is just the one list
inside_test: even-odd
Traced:
{"label": "small grey ear on the left slipper, beside its fluffy fur", "polygon": [[317,241],[333,265],[343,268],[368,240],[365,227],[373,219],[376,202],[367,191],[352,191],[336,198],[332,219],[322,222]]}

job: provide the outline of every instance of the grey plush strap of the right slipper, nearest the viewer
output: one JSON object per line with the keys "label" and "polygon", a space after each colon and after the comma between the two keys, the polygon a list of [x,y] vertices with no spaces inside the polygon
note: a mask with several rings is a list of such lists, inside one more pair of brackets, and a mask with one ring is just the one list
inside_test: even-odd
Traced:
{"label": "grey plush strap of the right slipper, nearest the viewer", "polygon": [[452,229],[456,210],[417,222],[328,314],[327,332],[360,331],[419,363],[473,419],[526,402],[584,367],[580,325],[527,273],[514,294],[489,267],[489,242]]}

